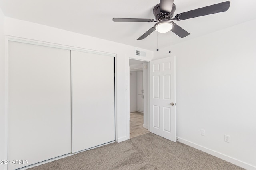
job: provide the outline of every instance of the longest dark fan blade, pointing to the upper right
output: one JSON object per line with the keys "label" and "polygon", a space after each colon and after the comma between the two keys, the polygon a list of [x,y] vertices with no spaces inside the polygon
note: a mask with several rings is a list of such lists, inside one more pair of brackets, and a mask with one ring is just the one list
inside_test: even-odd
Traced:
{"label": "longest dark fan blade, pointing to the upper right", "polygon": [[219,4],[214,4],[214,5],[210,5],[210,6],[206,6],[203,8],[198,8],[195,10],[191,10],[191,11],[187,11],[187,12],[183,12],[180,14],[177,14],[175,16],[175,20],[186,20],[189,18],[195,18],[195,17],[199,17],[199,16],[206,16],[209,14],[215,14],[218,12],[224,12],[227,11],[228,8],[230,6],[230,1],[226,1],[226,2],[221,2]]}

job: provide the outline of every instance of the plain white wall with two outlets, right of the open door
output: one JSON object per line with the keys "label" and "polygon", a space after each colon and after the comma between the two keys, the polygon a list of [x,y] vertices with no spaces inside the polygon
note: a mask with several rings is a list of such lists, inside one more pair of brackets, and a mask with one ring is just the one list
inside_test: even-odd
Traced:
{"label": "plain white wall with two outlets, right of the open door", "polygon": [[252,20],[171,47],[178,140],[248,169],[256,169],[255,30]]}

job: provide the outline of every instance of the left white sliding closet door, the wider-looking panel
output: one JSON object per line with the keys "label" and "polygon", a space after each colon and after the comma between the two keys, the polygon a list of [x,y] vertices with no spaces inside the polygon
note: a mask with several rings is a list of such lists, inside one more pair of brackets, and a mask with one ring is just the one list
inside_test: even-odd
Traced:
{"label": "left white sliding closet door, the wider-looking panel", "polygon": [[70,51],[9,41],[8,170],[70,152]]}

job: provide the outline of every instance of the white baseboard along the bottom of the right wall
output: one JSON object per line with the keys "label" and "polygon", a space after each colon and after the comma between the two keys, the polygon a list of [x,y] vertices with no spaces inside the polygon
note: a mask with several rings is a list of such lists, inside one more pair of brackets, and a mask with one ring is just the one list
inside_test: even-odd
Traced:
{"label": "white baseboard along the bottom of the right wall", "polygon": [[182,139],[182,138],[180,138],[180,137],[176,137],[176,138],[178,139],[178,142],[180,142],[180,143],[184,143],[185,145],[188,145],[188,146],[190,146],[190,147],[196,148],[196,149],[198,149],[198,150],[201,150],[201,151],[203,151],[203,152],[206,152],[206,153],[208,153],[208,154],[211,154],[211,155],[213,155],[213,156],[216,156],[217,158],[226,160],[227,162],[230,162],[230,163],[232,163],[232,164],[235,164],[235,165],[240,166],[240,167],[242,167],[242,168],[245,168],[245,169],[247,169],[247,170],[256,170],[256,166],[253,166],[253,165],[248,164],[248,163],[246,163],[246,162],[237,160],[237,159],[235,159],[235,158],[232,158],[232,157],[227,156],[227,155],[225,155],[225,154],[222,154],[222,153],[220,153],[220,152],[216,152],[216,151],[214,151],[214,150],[212,150],[212,149],[208,149],[208,148],[203,147],[203,146],[201,146],[201,145],[198,145],[198,144],[196,144],[196,143],[187,141],[186,139]]}

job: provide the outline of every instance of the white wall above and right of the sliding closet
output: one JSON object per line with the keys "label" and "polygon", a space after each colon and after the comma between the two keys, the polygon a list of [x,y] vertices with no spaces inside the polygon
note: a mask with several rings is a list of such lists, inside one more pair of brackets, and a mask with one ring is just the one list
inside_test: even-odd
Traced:
{"label": "white wall above and right of the sliding closet", "polygon": [[[135,47],[8,17],[5,17],[5,35],[116,54],[117,137],[118,142],[129,139],[129,113],[126,111],[129,91],[126,86],[129,86],[130,70],[126,53],[135,51]],[[153,56],[152,51],[144,51],[147,57]]]}

